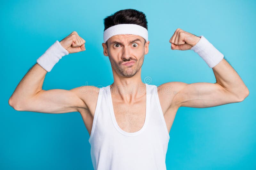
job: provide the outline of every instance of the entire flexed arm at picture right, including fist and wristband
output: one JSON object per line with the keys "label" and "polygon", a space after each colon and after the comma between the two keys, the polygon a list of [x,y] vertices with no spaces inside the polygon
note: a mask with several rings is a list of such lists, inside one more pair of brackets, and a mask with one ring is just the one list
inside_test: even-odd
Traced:
{"label": "entire flexed arm at picture right, including fist and wristband", "polygon": [[176,35],[170,39],[170,42],[173,43],[172,49],[192,49],[198,53],[212,68],[216,83],[164,83],[160,85],[160,88],[167,89],[165,87],[169,86],[171,87],[170,91],[173,92],[163,94],[164,98],[169,99],[168,104],[175,107],[206,108],[241,102],[249,95],[248,88],[234,68],[223,58],[223,54],[217,51],[204,37],[200,36],[201,39],[198,39],[197,36],[183,30],[176,30],[174,34]]}

